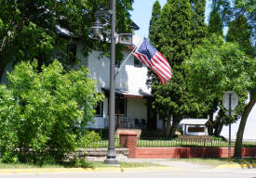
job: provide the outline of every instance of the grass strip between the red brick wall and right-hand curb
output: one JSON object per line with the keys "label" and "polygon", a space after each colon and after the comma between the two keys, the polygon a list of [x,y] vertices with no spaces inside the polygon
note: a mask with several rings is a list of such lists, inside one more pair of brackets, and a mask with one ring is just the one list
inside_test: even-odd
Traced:
{"label": "grass strip between the red brick wall and right-hand curb", "polygon": [[[209,159],[171,159],[172,161],[187,161],[197,164],[220,165],[229,164],[228,159],[209,158]],[[256,164],[256,158],[231,159],[230,163]]]}

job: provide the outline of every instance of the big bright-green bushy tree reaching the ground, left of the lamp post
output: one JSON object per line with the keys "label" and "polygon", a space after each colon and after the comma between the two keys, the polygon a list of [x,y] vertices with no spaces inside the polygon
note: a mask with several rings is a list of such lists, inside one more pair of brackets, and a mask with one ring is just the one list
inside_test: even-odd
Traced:
{"label": "big bright-green bushy tree reaching the ground, left of the lamp post", "polygon": [[38,72],[36,61],[21,62],[8,80],[0,85],[2,162],[63,163],[99,139],[85,130],[102,100],[87,69],[66,72],[55,60]]}

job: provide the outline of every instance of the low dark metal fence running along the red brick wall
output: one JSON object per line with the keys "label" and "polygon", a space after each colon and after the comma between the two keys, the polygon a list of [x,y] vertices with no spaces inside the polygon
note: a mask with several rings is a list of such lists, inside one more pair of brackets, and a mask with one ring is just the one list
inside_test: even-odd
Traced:
{"label": "low dark metal fence running along the red brick wall", "polygon": [[[234,147],[236,140],[231,140],[231,146]],[[97,142],[96,147],[108,147],[108,140]],[[138,147],[227,147],[228,142],[222,140],[207,139],[168,139],[168,138],[143,138],[137,141]],[[255,147],[256,140],[243,140],[243,147]],[[115,139],[115,147],[119,146],[119,139]]]}

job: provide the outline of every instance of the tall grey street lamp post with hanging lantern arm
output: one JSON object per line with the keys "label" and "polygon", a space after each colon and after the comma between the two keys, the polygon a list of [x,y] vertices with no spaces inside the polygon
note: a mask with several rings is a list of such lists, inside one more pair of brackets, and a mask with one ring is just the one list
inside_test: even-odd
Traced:
{"label": "tall grey street lamp post with hanging lantern arm", "polygon": [[107,164],[118,164],[115,154],[115,2],[115,0],[111,0],[110,10],[96,12],[96,21],[91,27],[99,35],[103,28],[99,17],[106,14],[111,15],[109,141],[107,159],[105,159]]}

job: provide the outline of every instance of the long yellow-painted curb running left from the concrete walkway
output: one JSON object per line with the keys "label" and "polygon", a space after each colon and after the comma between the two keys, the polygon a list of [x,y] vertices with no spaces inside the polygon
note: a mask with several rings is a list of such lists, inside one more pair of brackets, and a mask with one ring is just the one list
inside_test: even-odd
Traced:
{"label": "long yellow-painted curb running left from the concrete walkway", "polygon": [[[51,168],[51,169],[3,169],[0,174],[10,173],[40,173],[40,172],[145,172],[145,171],[167,171],[176,170],[169,167],[138,167],[138,168],[120,168],[120,167],[103,167],[103,168]],[[176,170],[178,171],[178,170]]]}

